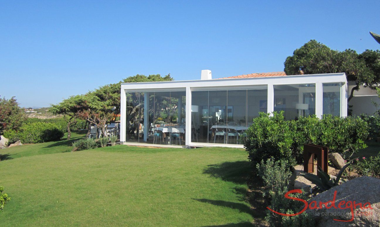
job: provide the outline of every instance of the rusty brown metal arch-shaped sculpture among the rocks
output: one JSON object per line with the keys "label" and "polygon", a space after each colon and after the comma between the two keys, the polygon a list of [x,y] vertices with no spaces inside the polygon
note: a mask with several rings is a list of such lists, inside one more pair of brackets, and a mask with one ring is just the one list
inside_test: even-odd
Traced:
{"label": "rusty brown metal arch-shaped sculpture among the rocks", "polygon": [[[307,173],[314,172],[314,156],[317,155],[317,166],[320,166],[323,172],[328,173],[328,150],[328,147],[304,144],[304,171]],[[317,175],[321,177],[318,172]]]}

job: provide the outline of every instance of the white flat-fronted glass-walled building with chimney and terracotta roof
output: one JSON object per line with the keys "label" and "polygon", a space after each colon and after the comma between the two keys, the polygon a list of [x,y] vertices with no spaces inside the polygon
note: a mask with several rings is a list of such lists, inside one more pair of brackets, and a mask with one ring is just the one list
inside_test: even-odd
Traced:
{"label": "white flat-fronted glass-walled building with chimney and terracotta roof", "polygon": [[347,116],[344,73],[242,75],[121,84],[120,142],[178,147],[243,147],[259,112],[284,110],[286,119]]}

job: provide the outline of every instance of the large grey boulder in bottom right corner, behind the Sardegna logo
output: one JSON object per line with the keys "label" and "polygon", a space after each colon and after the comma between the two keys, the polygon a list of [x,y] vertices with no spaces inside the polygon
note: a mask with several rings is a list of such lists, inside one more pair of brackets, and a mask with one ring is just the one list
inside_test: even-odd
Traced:
{"label": "large grey boulder in bottom right corner, behind the Sardegna logo", "polygon": [[[334,206],[332,206],[333,202],[330,202],[327,204],[328,208],[326,208],[326,205],[323,205],[320,209],[310,210],[308,208],[305,212],[315,216],[317,227],[380,226],[379,189],[380,179],[358,177],[322,192],[308,201],[309,208],[311,203],[319,206],[320,202],[326,203],[332,201],[336,191]],[[354,201],[356,206],[353,204]],[[359,203],[361,204],[358,205]],[[339,204],[344,209],[340,209]],[[353,216],[351,214],[351,206],[353,207]],[[343,221],[336,221],[334,219]]]}

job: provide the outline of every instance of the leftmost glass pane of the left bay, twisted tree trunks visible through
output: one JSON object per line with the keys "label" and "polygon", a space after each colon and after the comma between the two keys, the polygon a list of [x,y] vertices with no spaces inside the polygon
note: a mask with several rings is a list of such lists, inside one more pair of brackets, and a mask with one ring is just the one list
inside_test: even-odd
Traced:
{"label": "leftmost glass pane of the left bay, twisted tree trunks visible through", "polygon": [[125,115],[125,141],[139,142],[144,136],[144,93],[127,92]]}

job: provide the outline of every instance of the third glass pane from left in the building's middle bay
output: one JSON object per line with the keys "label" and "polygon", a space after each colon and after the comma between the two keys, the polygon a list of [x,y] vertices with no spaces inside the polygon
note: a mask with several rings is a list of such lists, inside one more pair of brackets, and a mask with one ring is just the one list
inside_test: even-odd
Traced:
{"label": "third glass pane from left in the building's middle bay", "polygon": [[226,143],[238,144],[241,126],[246,126],[247,90],[228,90],[227,106]]}

